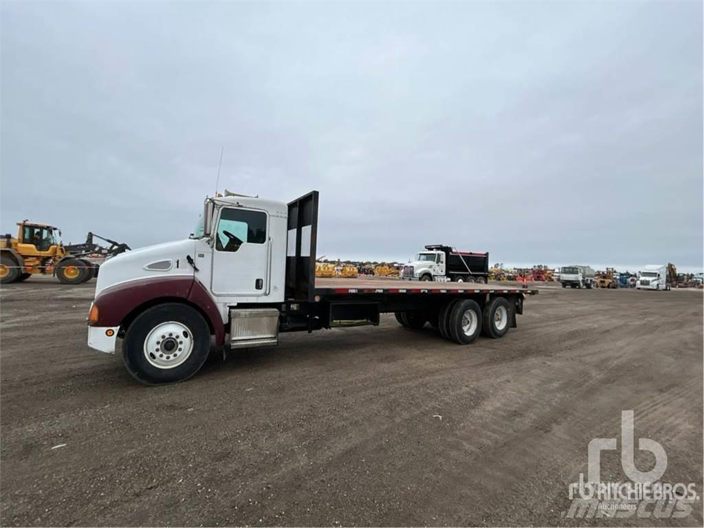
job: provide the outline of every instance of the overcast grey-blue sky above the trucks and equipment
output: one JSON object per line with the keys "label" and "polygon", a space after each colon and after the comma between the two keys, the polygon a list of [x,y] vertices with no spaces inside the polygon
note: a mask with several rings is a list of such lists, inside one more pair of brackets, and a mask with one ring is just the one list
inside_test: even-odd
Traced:
{"label": "overcast grey-blue sky above the trucks and equipment", "polygon": [[1,5],[0,230],[320,191],[318,255],[703,260],[699,1]]}

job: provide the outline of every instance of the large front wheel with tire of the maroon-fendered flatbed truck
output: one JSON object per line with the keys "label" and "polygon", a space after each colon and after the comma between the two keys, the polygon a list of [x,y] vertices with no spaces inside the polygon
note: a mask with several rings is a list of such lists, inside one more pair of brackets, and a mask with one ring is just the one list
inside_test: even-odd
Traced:
{"label": "large front wheel with tire of the maroon-fendered flatbed truck", "polygon": [[165,303],[132,321],[122,341],[125,367],[146,385],[183,382],[201,370],[210,351],[210,328],[195,309]]}

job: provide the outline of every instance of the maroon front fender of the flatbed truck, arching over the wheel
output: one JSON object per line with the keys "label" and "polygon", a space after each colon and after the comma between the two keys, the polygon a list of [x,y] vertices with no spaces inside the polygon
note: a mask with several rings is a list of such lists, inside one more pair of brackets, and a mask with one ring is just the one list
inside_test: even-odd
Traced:
{"label": "maroon front fender of the flatbed truck, arching over the wheel", "polygon": [[118,284],[96,297],[96,327],[117,327],[137,306],[158,298],[182,298],[198,306],[215,329],[215,343],[225,343],[225,325],[208,290],[193,277],[154,277]]}

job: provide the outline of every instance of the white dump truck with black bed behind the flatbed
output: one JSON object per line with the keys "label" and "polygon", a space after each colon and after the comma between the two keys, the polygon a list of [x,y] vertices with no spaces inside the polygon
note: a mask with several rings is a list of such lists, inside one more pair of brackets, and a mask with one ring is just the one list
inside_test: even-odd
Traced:
{"label": "white dump truck with black bed behind the flatbed", "polygon": [[442,244],[425,246],[425,251],[417,253],[414,260],[403,266],[401,278],[486,284],[489,253],[458,251]]}

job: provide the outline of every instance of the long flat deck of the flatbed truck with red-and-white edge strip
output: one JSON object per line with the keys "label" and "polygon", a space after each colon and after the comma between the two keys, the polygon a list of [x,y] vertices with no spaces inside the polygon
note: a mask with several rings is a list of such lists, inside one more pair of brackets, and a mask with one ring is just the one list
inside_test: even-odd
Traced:
{"label": "long flat deck of the flatbed truck with red-and-white edge strip", "polygon": [[401,279],[316,278],[315,294],[527,294],[537,289],[476,282],[431,282]]}

